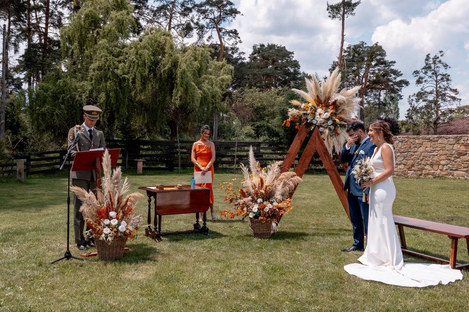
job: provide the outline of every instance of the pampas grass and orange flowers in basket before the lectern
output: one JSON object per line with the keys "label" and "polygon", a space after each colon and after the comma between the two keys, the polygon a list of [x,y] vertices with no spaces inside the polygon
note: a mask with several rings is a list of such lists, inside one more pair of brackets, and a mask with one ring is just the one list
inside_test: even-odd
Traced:
{"label": "pampas grass and orange flowers in basket before the lectern", "polygon": [[70,187],[70,190],[83,202],[80,212],[90,228],[89,232],[108,244],[118,236],[124,239],[135,236],[141,216],[132,216],[132,214],[137,200],[143,197],[138,192],[125,196],[130,186],[127,177],[122,180],[121,167],[117,167],[112,173],[111,170],[111,157],[106,150],[103,156],[104,196],[98,196],[100,199],[91,191],[87,192],[77,186]]}

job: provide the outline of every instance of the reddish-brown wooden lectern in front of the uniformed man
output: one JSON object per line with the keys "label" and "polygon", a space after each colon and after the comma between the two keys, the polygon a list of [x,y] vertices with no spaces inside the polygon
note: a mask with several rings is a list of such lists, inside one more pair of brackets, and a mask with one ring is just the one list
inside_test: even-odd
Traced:
{"label": "reddish-brown wooden lectern in front of the uniformed man", "polygon": [[[90,150],[77,152],[75,159],[73,160],[71,171],[80,170],[94,170],[96,172],[96,188],[101,190],[101,169],[103,162],[103,155],[105,150]],[[121,152],[120,148],[107,150],[111,156],[111,167],[114,168],[117,165],[117,159]]]}

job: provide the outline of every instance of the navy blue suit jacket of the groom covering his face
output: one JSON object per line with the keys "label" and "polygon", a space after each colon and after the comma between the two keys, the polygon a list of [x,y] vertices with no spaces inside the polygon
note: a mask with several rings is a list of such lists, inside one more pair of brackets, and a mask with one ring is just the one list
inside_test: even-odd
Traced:
{"label": "navy blue suit jacket of the groom covering his face", "polygon": [[[369,138],[366,139],[360,145],[357,150],[357,144],[353,144],[348,150],[346,147],[342,149],[341,152],[341,163],[348,162],[347,172],[345,174],[345,182],[343,183],[343,189],[350,192],[350,194],[355,196],[362,196],[363,190],[362,186],[355,181],[355,176],[352,174],[353,167],[357,162],[362,159],[364,156],[371,157],[375,151],[376,145],[371,142]],[[357,152],[357,153],[355,153]],[[370,194],[370,188],[366,189],[366,194]]]}

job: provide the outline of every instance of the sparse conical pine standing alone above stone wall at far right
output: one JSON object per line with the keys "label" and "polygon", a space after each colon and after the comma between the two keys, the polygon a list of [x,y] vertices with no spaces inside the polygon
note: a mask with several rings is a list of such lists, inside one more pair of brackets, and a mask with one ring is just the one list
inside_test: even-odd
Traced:
{"label": "sparse conical pine standing alone above stone wall at far right", "polygon": [[405,117],[407,120],[425,125],[438,133],[438,124],[446,122],[454,113],[461,99],[457,97],[458,89],[451,87],[450,68],[442,58],[443,51],[434,56],[427,54],[424,66],[413,72],[417,78],[415,85],[420,86],[417,93],[409,96],[409,109]]}

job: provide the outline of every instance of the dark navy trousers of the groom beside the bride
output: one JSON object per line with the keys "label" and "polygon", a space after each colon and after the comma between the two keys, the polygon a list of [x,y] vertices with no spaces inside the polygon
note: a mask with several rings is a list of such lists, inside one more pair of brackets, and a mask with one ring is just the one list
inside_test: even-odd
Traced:
{"label": "dark navy trousers of the groom beside the bride", "polygon": [[362,202],[362,196],[355,196],[348,192],[348,211],[352,220],[353,246],[358,249],[364,247],[364,235],[368,235],[368,202]]}

